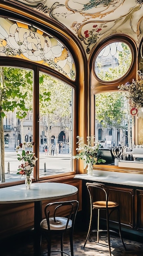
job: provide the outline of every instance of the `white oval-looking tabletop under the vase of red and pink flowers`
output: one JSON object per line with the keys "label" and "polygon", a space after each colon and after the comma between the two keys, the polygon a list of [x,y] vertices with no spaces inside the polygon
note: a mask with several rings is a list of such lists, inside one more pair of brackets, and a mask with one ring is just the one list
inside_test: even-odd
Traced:
{"label": "white oval-looking tabletop under the vase of red and pink flowers", "polygon": [[48,199],[64,198],[75,195],[78,189],[64,183],[32,183],[31,189],[25,184],[0,189],[0,204],[35,202]]}

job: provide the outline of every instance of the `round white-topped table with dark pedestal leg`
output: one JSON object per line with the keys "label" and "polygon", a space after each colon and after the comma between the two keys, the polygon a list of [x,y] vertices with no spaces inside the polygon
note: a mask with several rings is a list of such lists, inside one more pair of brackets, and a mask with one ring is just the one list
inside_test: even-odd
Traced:
{"label": "round white-topped table with dark pedestal leg", "polygon": [[31,189],[26,189],[25,184],[10,186],[0,189],[0,204],[34,202],[34,230],[35,256],[40,255],[40,221],[42,220],[42,200],[66,198],[70,195],[75,195],[78,189],[75,186],[56,183],[56,182],[41,182],[32,183]]}

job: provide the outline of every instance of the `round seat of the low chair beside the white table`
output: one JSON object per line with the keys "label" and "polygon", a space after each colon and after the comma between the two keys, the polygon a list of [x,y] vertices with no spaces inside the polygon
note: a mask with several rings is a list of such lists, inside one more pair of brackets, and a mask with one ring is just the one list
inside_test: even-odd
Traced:
{"label": "round seat of the low chair beside the white table", "polygon": [[[56,222],[54,222],[54,218],[49,218],[49,222],[50,222],[51,230],[56,230],[56,229],[63,230],[66,228],[67,218],[56,217]],[[42,229],[48,229],[46,218],[44,220],[42,220],[42,222],[40,223],[40,226]],[[71,226],[72,226],[72,221],[69,220],[67,228],[69,229]]]}

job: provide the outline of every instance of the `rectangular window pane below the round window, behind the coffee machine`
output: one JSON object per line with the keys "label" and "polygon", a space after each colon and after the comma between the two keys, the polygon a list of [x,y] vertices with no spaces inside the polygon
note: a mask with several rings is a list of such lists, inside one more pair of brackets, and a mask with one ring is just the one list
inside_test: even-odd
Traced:
{"label": "rectangular window pane below the round window, behind the coffee machine", "polygon": [[95,95],[95,135],[101,148],[132,148],[132,125],[134,117],[123,92]]}

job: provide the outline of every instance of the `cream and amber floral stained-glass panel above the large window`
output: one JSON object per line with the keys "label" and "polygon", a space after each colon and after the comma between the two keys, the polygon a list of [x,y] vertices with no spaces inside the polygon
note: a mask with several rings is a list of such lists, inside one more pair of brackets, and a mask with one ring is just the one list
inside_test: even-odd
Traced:
{"label": "cream and amber floral stained-glass panel above the large window", "polygon": [[68,49],[32,25],[0,18],[0,56],[34,61],[75,80],[75,63]]}

